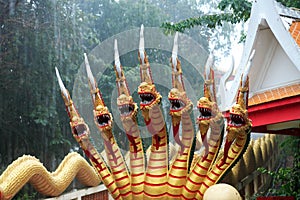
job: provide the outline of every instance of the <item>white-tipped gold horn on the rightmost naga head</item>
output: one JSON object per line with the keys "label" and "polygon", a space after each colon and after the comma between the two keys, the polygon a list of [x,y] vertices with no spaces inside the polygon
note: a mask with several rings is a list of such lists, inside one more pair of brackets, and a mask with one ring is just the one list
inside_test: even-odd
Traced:
{"label": "white-tipped gold horn on the rightmost naga head", "polygon": [[255,50],[252,51],[249,60],[247,62],[246,68],[244,70],[244,73],[241,77],[241,83],[239,88],[239,93],[237,96],[237,103],[243,106],[245,109],[248,108],[248,95],[249,95],[249,71],[252,64],[252,59],[254,57]]}

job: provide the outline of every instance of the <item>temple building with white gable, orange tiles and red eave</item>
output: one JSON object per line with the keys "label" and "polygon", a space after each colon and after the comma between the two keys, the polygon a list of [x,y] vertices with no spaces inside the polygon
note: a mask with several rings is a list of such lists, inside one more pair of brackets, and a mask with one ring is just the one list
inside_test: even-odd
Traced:
{"label": "temple building with white gable, orange tiles and red eave", "polygon": [[[246,43],[222,110],[234,103],[251,52],[249,118],[253,132],[300,135],[300,10],[253,2]],[[225,91],[223,91],[225,92]]]}

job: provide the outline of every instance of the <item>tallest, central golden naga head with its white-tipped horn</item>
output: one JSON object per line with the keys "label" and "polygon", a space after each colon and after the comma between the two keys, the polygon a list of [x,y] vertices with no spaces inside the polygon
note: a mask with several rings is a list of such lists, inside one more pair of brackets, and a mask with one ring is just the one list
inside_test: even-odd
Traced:
{"label": "tallest, central golden naga head with its white-tipped horn", "polygon": [[161,95],[156,90],[153,83],[150,64],[144,47],[144,26],[140,31],[140,44],[138,59],[140,61],[140,76],[141,84],[138,87],[138,94],[141,99],[140,108],[142,111],[149,110],[151,107],[158,105],[161,102]]}

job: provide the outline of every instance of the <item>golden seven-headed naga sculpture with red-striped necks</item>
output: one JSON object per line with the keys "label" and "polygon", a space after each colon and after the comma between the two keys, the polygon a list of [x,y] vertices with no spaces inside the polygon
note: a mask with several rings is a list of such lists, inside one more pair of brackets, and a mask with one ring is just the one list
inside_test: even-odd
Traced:
{"label": "golden seven-headed naga sculpture with red-striped necks", "polygon": [[[83,175],[80,177],[83,177],[84,180],[92,179],[89,180],[91,183],[88,185],[99,184],[101,179],[114,199],[202,199],[205,191],[222,179],[247,148],[251,131],[251,121],[247,113],[249,91],[247,74],[253,55],[249,59],[246,71],[241,78],[236,104],[230,109],[225,130],[224,116],[218,109],[216,101],[214,71],[212,69],[213,54],[210,54],[204,73],[204,96],[197,102],[199,116],[196,119],[196,124],[200,131],[200,138],[196,138],[192,115],[193,104],[188,98],[184,87],[181,63],[177,56],[177,38],[178,34],[175,35],[170,60],[173,88],[168,95],[169,113],[172,119],[171,132],[177,146],[177,153],[171,158],[169,158],[168,149],[169,135],[161,109],[162,96],[157,91],[152,79],[151,67],[144,49],[143,26],[140,31],[138,50],[141,77],[138,95],[141,99],[139,109],[152,137],[148,162],[138,127],[138,105],[134,102],[127,86],[127,80],[119,60],[117,41],[115,41],[114,62],[118,89],[117,107],[124,132],[130,144],[129,166],[126,166],[123,155],[116,143],[112,132],[113,117],[106,107],[101,91],[92,75],[87,55],[85,55],[85,65],[94,105],[94,121],[104,142],[107,162],[104,161],[101,154],[90,142],[89,128],[78,113],[56,69],[61,94],[70,118],[72,134],[94,168],[94,170],[91,170],[90,167],[84,167],[86,171],[82,172]],[[225,132],[227,134],[224,137]],[[222,148],[223,137],[225,140],[224,148]],[[203,151],[200,151],[200,153],[195,152],[197,139],[202,140]],[[38,161],[35,162],[38,163]],[[26,176],[27,178],[22,183],[25,184],[29,181],[34,186],[39,185],[40,182],[49,182],[47,192],[39,190],[37,186],[37,190],[41,193],[54,196],[61,193],[61,191],[50,192],[54,191],[53,187],[57,187],[55,180],[52,180],[55,179],[53,174],[42,170],[39,175],[34,175],[31,173],[31,167],[33,168],[33,166],[29,166],[29,168],[24,166],[23,169],[19,170],[27,171],[16,172],[15,176]],[[14,167],[10,167],[8,170],[11,171],[11,168]],[[83,169],[78,169],[77,172],[80,170]],[[89,175],[91,173],[94,173],[94,175]],[[95,176],[95,173],[98,176]],[[5,179],[8,174],[9,172],[4,172],[0,176],[1,199],[12,198],[20,189],[19,186],[14,189],[8,188],[6,182],[9,182],[9,180]],[[91,177],[88,178],[89,176]],[[15,185],[14,182],[9,182],[9,184]],[[46,183],[42,185],[45,186]]]}

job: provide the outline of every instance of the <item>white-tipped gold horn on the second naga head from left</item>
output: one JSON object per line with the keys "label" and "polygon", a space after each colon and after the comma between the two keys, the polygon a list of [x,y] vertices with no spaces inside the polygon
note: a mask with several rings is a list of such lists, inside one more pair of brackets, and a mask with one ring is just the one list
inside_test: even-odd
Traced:
{"label": "white-tipped gold horn on the second naga head from left", "polygon": [[85,68],[86,68],[86,72],[87,72],[87,76],[88,76],[88,80],[89,80],[89,86],[90,86],[90,91],[91,91],[91,95],[93,98],[93,104],[94,104],[94,108],[95,110],[97,110],[97,106],[101,105],[101,106],[105,106],[105,103],[102,99],[102,94],[97,86],[97,82],[92,74],[91,71],[91,67],[87,58],[87,55],[84,54],[84,63],[85,63]]}

